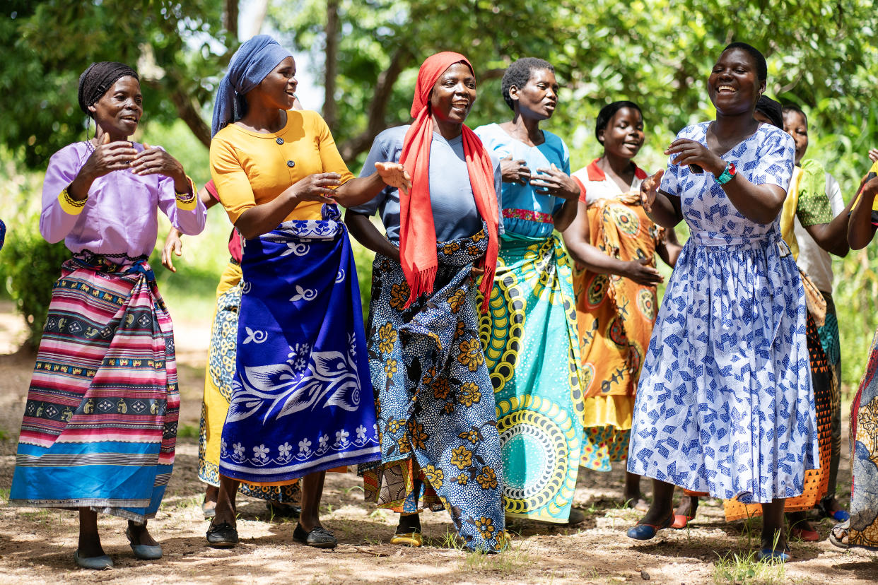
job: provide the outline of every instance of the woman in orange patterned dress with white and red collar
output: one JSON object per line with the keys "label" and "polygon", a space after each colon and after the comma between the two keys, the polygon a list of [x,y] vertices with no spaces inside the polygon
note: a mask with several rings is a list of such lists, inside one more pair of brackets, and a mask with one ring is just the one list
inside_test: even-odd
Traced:
{"label": "woman in orange patterned dress with white and red collar", "polygon": [[[640,204],[646,174],[633,161],[644,145],[637,104],[604,106],[594,133],[604,152],[573,174],[582,196],[564,240],[576,261],[573,289],[586,389],[581,463],[609,471],[611,461],[628,457],[634,395],[662,282],[655,254],[673,266],[680,245],[673,230],[655,225]],[[646,510],[639,475],[626,475],[623,500]]]}

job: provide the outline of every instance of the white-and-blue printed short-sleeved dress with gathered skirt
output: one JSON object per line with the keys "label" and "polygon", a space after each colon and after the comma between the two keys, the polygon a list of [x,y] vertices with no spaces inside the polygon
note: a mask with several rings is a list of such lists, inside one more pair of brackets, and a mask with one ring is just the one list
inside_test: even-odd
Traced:
{"label": "white-and-blue printed short-sleeved dress with gathered skirt", "polygon": [[[709,122],[677,138],[707,144]],[[793,139],[770,125],[723,154],[786,190]],[[713,175],[668,164],[691,233],[637,389],[628,470],[744,503],[802,494],[818,466],[804,289],[778,219],[745,218]]]}

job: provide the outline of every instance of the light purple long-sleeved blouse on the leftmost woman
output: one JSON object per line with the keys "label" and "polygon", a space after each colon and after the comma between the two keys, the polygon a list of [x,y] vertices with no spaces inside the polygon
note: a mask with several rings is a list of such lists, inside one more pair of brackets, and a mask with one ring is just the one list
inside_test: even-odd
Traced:
{"label": "light purple long-sleeved blouse on the leftmost woman", "polygon": [[[143,145],[134,143],[134,149]],[[174,181],[164,175],[134,175],[112,171],[91,183],[84,207],[73,208],[59,196],[68,187],[93,151],[86,142],[64,146],[52,155],[43,182],[40,233],[49,242],[60,242],[73,252],[148,256],[158,235],[158,213],[187,235],[205,229],[207,210],[195,197],[193,203],[177,203]]]}

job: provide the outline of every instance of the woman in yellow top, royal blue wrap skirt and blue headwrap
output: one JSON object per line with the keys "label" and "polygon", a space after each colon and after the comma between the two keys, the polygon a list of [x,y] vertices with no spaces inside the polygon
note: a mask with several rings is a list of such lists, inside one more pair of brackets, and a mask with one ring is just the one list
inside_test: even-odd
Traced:
{"label": "woman in yellow top, royal blue wrap skirt and blue headwrap", "polygon": [[378,173],[354,179],[326,122],[291,110],[295,74],[289,51],[254,37],[234,54],[213,111],[211,174],[243,238],[236,372],[207,531],[213,546],[238,542],[239,482],[303,478],[293,538],[334,547],[318,513],[325,471],[380,457],[356,268],[336,203],[410,183],[398,164],[378,163]]}

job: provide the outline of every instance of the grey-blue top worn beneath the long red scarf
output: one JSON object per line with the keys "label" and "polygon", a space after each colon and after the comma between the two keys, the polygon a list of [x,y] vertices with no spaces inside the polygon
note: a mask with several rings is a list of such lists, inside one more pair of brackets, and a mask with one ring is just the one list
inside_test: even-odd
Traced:
{"label": "grey-blue top worn beneath the long red scarf", "polygon": [[[402,141],[406,138],[408,125],[388,128],[378,134],[372,142],[369,156],[360,171],[360,176],[375,172],[376,162],[399,162]],[[494,167],[494,189],[497,191],[497,207],[500,208],[500,161],[492,155]],[[433,223],[436,241],[469,238],[482,229],[479,210],[472,195],[470,174],[464,159],[464,138],[446,140],[441,134],[433,132],[430,145],[430,204],[433,207]],[[387,239],[399,242],[399,191],[385,187],[370,202],[351,207],[350,210],[365,215],[373,215],[376,210],[385,226]],[[503,232],[503,218],[500,217],[500,233]]]}

